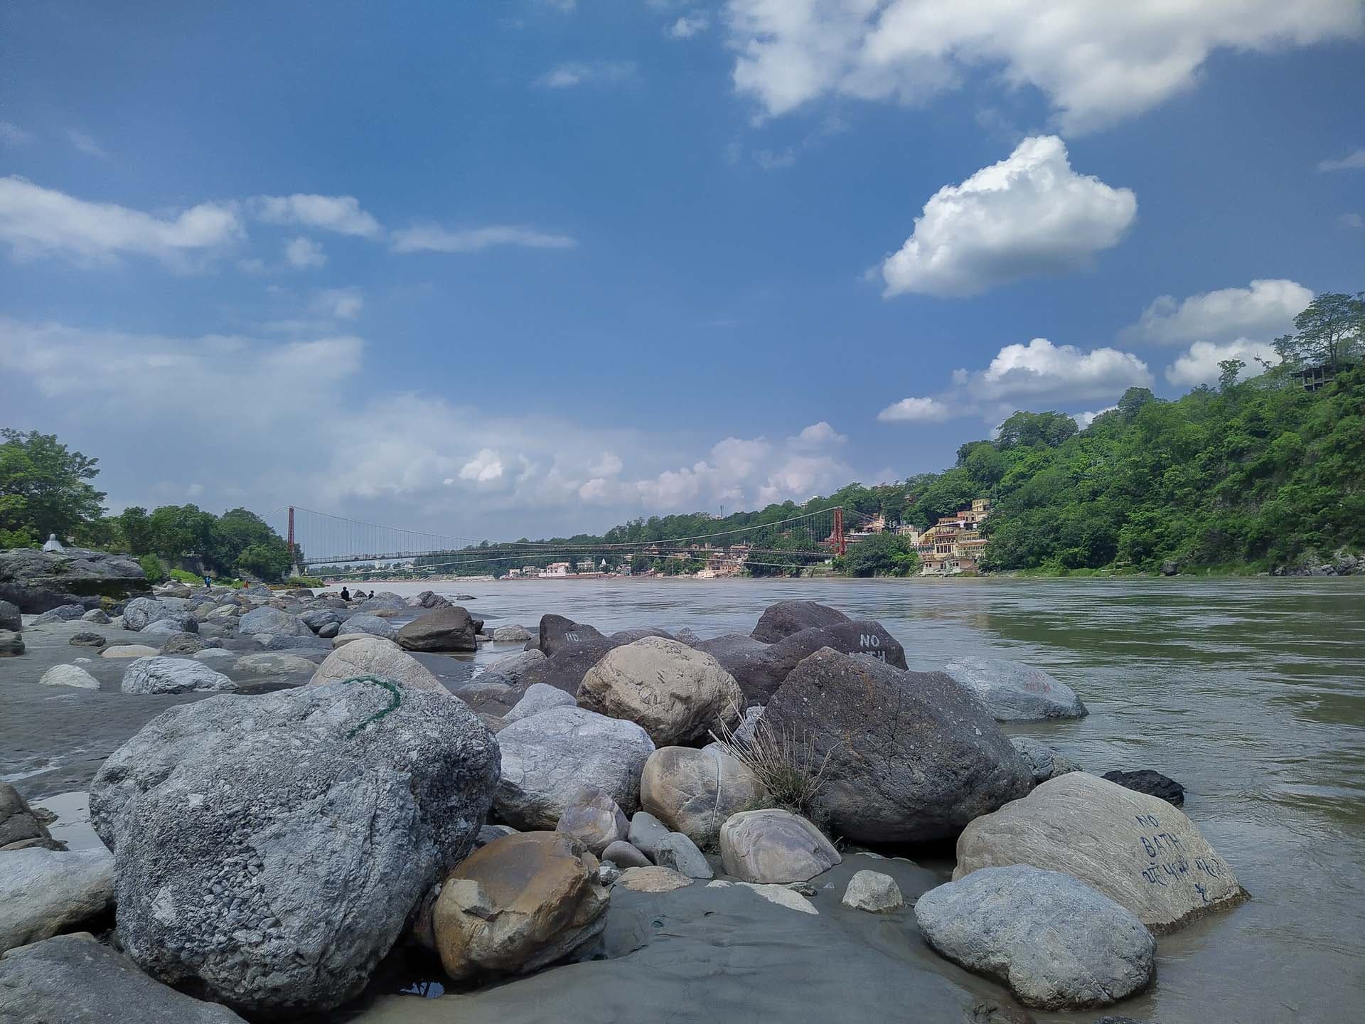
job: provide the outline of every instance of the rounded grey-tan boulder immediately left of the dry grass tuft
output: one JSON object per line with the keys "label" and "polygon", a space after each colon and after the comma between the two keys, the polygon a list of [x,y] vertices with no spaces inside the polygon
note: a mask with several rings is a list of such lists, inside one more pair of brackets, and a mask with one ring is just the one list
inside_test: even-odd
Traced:
{"label": "rounded grey-tan boulder immediately left of the dry grass tuft", "polygon": [[659,747],[640,776],[640,807],[702,848],[714,847],[725,821],[758,807],[767,791],[717,745]]}

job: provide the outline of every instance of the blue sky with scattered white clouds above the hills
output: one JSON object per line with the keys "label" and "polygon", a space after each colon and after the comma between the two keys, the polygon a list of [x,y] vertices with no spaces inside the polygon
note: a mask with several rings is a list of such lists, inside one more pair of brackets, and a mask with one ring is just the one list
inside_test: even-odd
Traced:
{"label": "blue sky with scattered white clouds above the hills", "polygon": [[804,501],[1365,289],[1365,0],[7,4],[0,426],[112,511]]}

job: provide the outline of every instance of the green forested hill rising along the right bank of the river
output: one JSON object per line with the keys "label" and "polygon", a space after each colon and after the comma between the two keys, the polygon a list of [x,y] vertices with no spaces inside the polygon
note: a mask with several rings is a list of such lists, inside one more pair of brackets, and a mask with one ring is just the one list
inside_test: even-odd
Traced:
{"label": "green forested hill rising along the right bank of the river", "polygon": [[[1280,366],[1164,401],[1129,389],[1084,430],[1061,412],[1017,412],[957,466],[891,485],[723,520],[657,516],[576,541],[640,542],[773,523],[844,505],[920,527],[995,500],[990,569],[1132,567],[1271,569],[1365,547],[1365,369],[1306,392]],[[568,539],[568,538],[565,538]]]}

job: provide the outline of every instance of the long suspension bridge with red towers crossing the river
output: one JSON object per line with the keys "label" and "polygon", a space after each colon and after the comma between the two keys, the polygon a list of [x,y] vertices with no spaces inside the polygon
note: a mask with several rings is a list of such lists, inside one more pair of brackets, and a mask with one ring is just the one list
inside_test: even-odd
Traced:
{"label": "long suspension bridge with red towers crossing the river", "polygon": [[632,524],[609,534],[624,532],[629,535],[627,539],[490,542],[364,523],[293,505],[288,508],[288,545],[298,568],[325,571],[328,576],[374,573],[385,568],[430,575],[500,575],[554,563],[569,563],[572,571],[573,565],[584,563],[594,568],[606,563],[614,568],[637,564],[639,558],[650,567],[678,558],[728,571],[745,567],[792,569],[844,554],[849,537],[857,539],[870,520],[870,516],[835,505],[688,537],[650,537],[643,524]]}

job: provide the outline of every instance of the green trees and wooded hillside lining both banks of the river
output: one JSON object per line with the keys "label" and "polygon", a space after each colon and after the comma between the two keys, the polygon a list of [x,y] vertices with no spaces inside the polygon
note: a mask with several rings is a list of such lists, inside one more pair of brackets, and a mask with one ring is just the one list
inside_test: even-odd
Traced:
{"label": "green trees and wooded hillside lining both banks of the river", "polygon": [[[606,554],[605,568],[629,564],[635,573],[684,576],[706,567],[706,552],[637,552],[732,534],[766,552],[762,563],[745,561],[751,578],[913,576],[919,554],[890,527],[924,530],[988,498],[979,565],[990,575],[1355,575],[1365,572],[1362,296],[1316,298],[1295,319],[1297,333],[1276,341],[1282,362],[1263,363],[1254,377],[1245,378],[1242,360],[1228,359],[1216,388],[1203,385],[1179,399],[1129,388],[1084,427],[1065,412],[1020,411],[992,438],[962,444],[943,472],[871,487],[850,483],[801,504],[721,519],[693,512],[632,519],[601,535],[485,541],[425,554],[411,572],[347,565],[310,572],[366,583],[501,578],[562,560],[557,549],[620,545],[636,550]],[[53,434],[0,430],[0,547],[35,547],[55,535],[138,557],[149,580],[180,579],[180,572],[191,578],[187,583],[203,575],[278,583],[303,563],[300,549],[291,556],[280,534],[246,508],[216,516],[192,504],[152,512],[130,507],[106,516],[105,494],[90,483],[97,474],[98,459],[68,451]],[[812,556],[826,550],[822,541],[784,523],[837,507],[889,528],[812,567]],[[526,547],[532,543],[536,554]]]}

